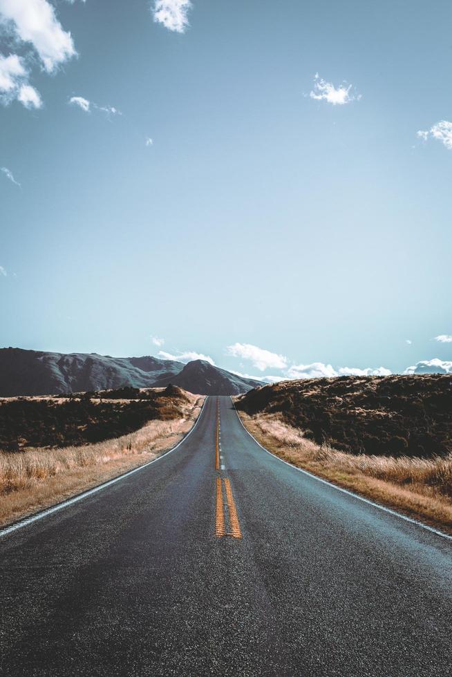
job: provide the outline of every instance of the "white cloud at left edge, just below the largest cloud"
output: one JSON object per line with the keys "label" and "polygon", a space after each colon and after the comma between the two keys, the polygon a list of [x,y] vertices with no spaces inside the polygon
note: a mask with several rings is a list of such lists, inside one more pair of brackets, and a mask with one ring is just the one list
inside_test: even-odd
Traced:
{"label": "white cloud at left edge, just below the largest cloud", "polygon": [[8,105],[17,99],[26,108],[41,108],[39,92],[28,84],[28,69],[17,54],[0,55],[0,102]]}

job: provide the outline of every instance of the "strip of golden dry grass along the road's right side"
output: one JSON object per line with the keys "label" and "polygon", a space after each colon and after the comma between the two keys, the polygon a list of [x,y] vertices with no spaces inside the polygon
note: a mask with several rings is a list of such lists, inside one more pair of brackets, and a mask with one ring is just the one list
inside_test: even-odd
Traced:
{"label": "strip of golden dry grass along the road's right side", "polygon": [[352,455],[306,439],[301,430],[284,423],[281,414],[238,414],[247,430],[285,461],[452,533],[452,455]]}

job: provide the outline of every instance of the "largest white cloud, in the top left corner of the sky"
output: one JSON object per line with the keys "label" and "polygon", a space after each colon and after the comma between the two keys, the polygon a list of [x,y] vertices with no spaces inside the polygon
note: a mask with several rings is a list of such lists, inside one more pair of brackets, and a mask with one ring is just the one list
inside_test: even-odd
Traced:
{"label": "largest white cloud, in the top left corner of the sky", "polygon": [[0,16],[3,30],[31,44],[48,73],[77,54],[47,0],[0,0]]}

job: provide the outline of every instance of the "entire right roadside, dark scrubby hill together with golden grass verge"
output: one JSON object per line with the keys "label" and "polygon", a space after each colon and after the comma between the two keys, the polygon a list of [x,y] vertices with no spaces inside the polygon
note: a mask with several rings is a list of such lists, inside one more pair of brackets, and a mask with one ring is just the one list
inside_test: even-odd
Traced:
{"label": "entire right roadside, dark scrubby hill together with golden grass verge", "polygon": [[452,533],[451,389],[450,376],[350,376],[266,386],[236,407],[279,457]]}

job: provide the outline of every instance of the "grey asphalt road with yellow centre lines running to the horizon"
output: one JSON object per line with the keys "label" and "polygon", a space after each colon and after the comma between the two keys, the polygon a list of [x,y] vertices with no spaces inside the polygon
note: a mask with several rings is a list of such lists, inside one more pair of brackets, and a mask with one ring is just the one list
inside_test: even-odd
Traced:
{"label": "grey asphalt road with yellow centre lines running to the horizon", "polygon": [[177,450],[0,537],[0,674],[450,675],[451,554],[211,397]]}

